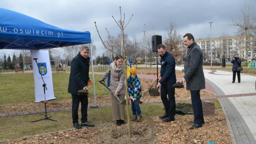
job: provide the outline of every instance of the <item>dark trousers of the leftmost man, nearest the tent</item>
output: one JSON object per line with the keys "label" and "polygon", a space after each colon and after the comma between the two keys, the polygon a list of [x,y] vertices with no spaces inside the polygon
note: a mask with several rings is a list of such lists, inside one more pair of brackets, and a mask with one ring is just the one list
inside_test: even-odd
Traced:
{"label": "dark trousers of the leftmost man, nearest the tent", "polygon": [[81,102],[81,121],[82,123],[87,122],[87,107],[88,107],[88,96],[77,96],[72,94],[72,119],[73,124],[78,123],[78,107]]}

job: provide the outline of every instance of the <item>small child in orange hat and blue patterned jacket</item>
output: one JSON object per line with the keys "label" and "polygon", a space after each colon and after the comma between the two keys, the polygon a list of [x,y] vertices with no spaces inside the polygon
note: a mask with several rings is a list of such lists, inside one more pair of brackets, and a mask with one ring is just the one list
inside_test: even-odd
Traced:
{"label": "small child in orange hat and blue patterned jacket", "polygon": [[140,105],[135,104],[134,101],[136,102],[140,101],[140,97],[142,95],[141,93],[141,85],[140,85],[140,79],[137,77],[137,70],[135,67],[131,68],[130,72],[130,77],[128,78],[128,94],[131,99],[132,103],[132,122],[137,121],[140,122],[142,120],[141,116],[141,110],[140,110]]}

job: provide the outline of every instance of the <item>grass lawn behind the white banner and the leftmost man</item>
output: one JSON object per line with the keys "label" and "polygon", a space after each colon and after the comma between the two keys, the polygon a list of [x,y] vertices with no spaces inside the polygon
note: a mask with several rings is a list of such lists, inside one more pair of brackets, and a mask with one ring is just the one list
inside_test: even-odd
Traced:
{"label": "grass lawn behind the white banner and the leftmost man", "polygon": [[[72,98],[68,93],[70,73],[52,73],[54,96],[56,100]],[[92,79],[92,74],[89,74]],[[95,74],[96,95],[109,94],[98,81],[102,75]],[[42,87],[43,89],[43,87]],[[33,73],[2,74],[0,76],[0,104],[33,102],[35,100]],[[89,96],[94,96],[93,84],[89,86]]]}

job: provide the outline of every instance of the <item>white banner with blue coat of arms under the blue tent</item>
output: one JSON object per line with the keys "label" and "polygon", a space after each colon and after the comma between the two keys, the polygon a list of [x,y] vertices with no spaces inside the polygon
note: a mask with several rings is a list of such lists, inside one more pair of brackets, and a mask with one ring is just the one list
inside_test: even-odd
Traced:
{"label": "white banner with blue coat of arms under the blue tent", "polygon": [[[45,97],[46,100],[54,99],[53,84],[52,84],[52,69],[50,64],[49,53],[47,50],[30,50],[32,58],[32,66],[34,73],[34,82],[35,82],[35,102],[40,102],[44,100],[44,87],[43,84],[46,84]],[[33,60],[37,58],[37,60]],[[36,65],[36,61],[38,66]],[[39,67],[39,69],[38,69]],[[42,80],[41,74],[44,78]]]}

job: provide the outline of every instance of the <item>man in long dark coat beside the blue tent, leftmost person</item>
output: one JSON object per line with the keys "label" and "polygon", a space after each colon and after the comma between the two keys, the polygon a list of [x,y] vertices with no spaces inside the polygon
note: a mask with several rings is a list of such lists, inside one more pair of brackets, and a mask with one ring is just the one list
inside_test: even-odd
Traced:
{"label": "man in long dark coat beside the blue tent, leftmost person", "polygon": [[[87,46],[82,46],[81,51],[71,61],[71,70],[68,83],[68,92],[72,94],[72,119],[73,126],[75,128],[82,128],[84,126],[94,126],[87,122],[87,107],[88,107],[88,95],[79,95],[78,90],[88,90],[87,82],[89,78],[90,67],[90,49]],[[81,102],[81,114],[82,114],[82,126],[78,124],[78,107]]]}

